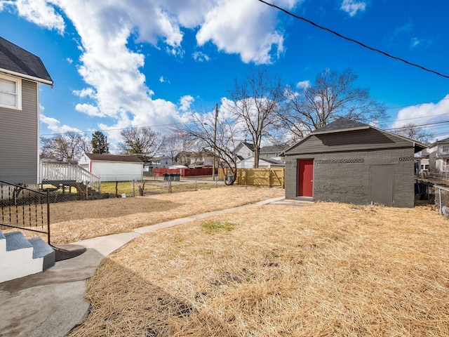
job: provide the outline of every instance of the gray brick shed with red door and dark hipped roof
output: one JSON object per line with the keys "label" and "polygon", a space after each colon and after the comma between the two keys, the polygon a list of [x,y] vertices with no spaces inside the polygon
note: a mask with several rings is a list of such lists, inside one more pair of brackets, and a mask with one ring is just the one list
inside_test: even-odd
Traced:
{"label": "gray brick shed with red door and dark hipped roof", "polygon": [[414,154],[426,146],[337,119],[289,147],[286,199],[413,207]]}

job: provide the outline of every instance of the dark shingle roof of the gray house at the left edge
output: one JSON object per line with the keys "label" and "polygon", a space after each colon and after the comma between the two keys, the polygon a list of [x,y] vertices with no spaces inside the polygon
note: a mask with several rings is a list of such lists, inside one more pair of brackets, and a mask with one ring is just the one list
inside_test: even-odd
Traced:
{"label": "dark shingle roof of the gray house at the left edge", "polygon": [[22,74],[53,86],[53,80],[39,57],[3,37],[0,37],[0,70]]}

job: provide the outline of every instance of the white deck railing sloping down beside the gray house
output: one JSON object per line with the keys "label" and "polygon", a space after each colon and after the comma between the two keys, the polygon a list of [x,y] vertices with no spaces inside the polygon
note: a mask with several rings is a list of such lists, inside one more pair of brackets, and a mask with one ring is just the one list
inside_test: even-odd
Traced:
{"label": "white deck railing sloping down beside the gray house", "polygon": [[39,183],[45,181],[76,181],[100,192],[100,178],[76,162],[41,163]]}

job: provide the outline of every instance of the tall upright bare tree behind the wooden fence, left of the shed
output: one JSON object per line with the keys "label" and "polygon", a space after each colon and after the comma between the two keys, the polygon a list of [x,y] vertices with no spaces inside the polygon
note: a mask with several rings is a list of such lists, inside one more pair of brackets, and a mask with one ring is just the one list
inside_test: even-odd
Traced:
{"label": "tall upright bare tree behind the wooden fence, left of the shed", "polygon": [[252,70],[243,81],[234,81],[226,108],[244,126],[254,144],[254,167],[259,167],[260,144],[274,126],[283,100],[279,77],[272,77],[265,68]]}

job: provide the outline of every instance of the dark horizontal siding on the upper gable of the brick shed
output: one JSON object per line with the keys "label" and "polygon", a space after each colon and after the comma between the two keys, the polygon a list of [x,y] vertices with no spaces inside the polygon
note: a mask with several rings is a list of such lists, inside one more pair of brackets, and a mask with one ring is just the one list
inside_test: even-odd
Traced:
{"label": "dark horizontal siding on the upper gable of the brick shed", "polygon": [[355,150],[376,150],[397,147],[410,147],[403,138],[384,133],[373,128],[336,133],[311,135],[288,150],[288,154],[306,154],[316,152],[340,152]]}

